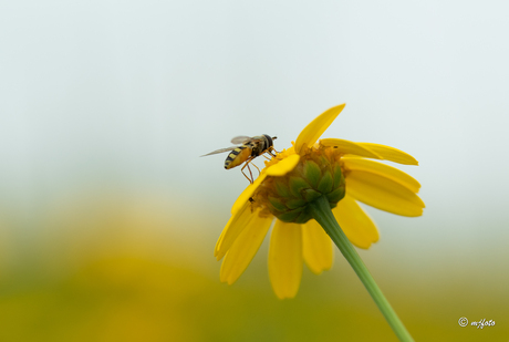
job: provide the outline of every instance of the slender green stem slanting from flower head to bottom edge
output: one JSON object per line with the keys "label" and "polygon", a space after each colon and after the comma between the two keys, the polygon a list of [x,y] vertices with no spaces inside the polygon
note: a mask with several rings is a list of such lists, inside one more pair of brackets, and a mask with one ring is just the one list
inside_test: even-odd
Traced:
{"label": "slender green stem slanting from flower head to bottom edge", "polygon": [[367,292],[370,292],[371,297],[375,301],[380,311],[382,311],[382,314],[385,317],[385,320],[387,320],[388,324],[396,333],[399,341],[414,341],[408,331],[405,329],[405,325],[403,325],[402,321],[397,317],[394,309],[385,299],[375,280],[370,274],[370,271],[362,261],[361,257],[357,255],[352,243],[346,238],[340,225],[335,220],[326,197],[321,196],[316,198],[314,201],[310,203],[310,206],[312,208],[314,219],[331,237],[332,241],[334,241],[334,243],[337,246],[345,259],[352,266],[355,273],[357,273],[357,277],[361,279]]}

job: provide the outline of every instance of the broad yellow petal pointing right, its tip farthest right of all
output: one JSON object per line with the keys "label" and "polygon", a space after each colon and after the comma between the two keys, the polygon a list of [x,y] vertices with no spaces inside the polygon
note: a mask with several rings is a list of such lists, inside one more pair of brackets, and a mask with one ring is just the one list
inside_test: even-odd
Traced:
{"label": "broad yellow petal pointing right, its tip farthest right of all", "polygon": [[364,170],[351,170],[345,176],[345,183],[346,194],[366,205],[402,216],[423,215],[423,200],[391,178]]}

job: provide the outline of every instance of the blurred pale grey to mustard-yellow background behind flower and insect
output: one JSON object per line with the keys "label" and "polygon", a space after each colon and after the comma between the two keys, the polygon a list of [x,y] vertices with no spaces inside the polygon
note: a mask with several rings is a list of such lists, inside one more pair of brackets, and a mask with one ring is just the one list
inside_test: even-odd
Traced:
{"label": "blurred pale grey to mustard-yellow background behind flower and insect", "polygon": [[284,301],[268,239],[230,287],[212,255],[248,184],[199,156],[343,102],[323,137],[419,160],[424,216],[360,250],[409,332],[508,341],[508,10],[2,1],[0,341],[396,341],[340,253]]}

